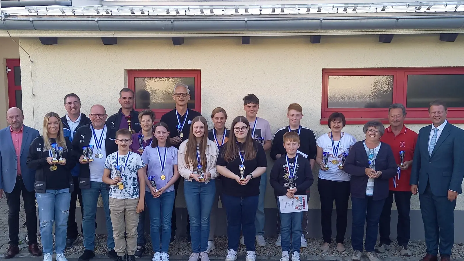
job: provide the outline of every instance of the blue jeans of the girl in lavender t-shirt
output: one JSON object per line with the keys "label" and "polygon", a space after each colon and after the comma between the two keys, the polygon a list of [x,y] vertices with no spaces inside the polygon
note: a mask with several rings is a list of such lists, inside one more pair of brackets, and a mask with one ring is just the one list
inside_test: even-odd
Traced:
{"label": "blue jeans of the girl in lavender t-shirt", "polygon": [[146,192],[145,204],[148,206],[148,215],[150,215],[150,238],[153,246],[153,252],[168,253],[169,241],[171,239],[171,217],[174,206],[174,190],[164,192],[159,197],[153,197],[151,194]]}

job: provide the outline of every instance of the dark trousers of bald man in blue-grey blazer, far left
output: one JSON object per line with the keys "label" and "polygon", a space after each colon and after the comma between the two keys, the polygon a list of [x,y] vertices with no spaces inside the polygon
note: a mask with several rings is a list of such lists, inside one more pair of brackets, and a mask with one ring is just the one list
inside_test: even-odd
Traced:
{"label": "dark trousers of bald man in blue-grey blazer, far left", "polygon": [[21,208],[21,192],[23,193],[24,212],[28,244],[37,244],[37,211],[35,209],[35,191],[27,191],[21,176],[16,177],[13,191],[6,194],[8,204],[8,236],[11,245],[19,244],[19,209]]}

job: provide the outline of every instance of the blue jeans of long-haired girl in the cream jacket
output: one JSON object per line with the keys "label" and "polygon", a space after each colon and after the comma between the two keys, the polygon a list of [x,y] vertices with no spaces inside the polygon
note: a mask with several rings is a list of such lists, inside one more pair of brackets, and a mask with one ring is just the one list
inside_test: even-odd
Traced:
{"label": "blue jeans of long-haired girl in the cream jacket", "polygon": [[185,181],[184,196],[190,216],[190,237],[192,238],[192,252],[201,253],[208,248],[209,215],[213,207],[216,193],[215,180],[208,183]]}

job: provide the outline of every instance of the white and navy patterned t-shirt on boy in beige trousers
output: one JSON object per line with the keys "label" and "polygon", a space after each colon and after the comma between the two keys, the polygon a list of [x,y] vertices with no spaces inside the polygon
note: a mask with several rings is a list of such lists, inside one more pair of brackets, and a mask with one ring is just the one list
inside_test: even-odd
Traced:
{"label": "white and navy patterned t-shirt on boy in beige trousers", "polygon": [[[126,161],[127,164],[124,168]],[[118,199],[138,198],[140,195],[140,184],[137,179],[137,170],[145,167],[142,157],[132,151],[129,151],[126,155],[118,155],[117,152],[108,155],[105,169],[110,170],[111,179],[116,177],[116,165],[118,164],[121,166],[121,179],[124,188],[119,189],[118,185],[110,185],[110,197]]]}

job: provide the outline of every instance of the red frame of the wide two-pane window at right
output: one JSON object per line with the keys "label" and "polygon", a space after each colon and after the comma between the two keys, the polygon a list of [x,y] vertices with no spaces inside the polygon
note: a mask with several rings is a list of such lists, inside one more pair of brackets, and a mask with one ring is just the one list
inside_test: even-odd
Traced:
{"label": "red frame of the wide two-pane window at right", "polygon": [[[364,124],[369,120],[380,120],[387,124],[388,108],[329,108],[329,76],[370,76],[393,75],[393,103],[406,106],[408,75],[464,74],[464,67],[433,68],[366,68],[366,69],[322,69],[322,112],[321,124],[327,124],[330,114],[342,112],[347,124]],[[428,108],[407,108],[407,124],[431,123]],[[450,123],[464,123],[464,107],[448,108],[447,119]]]}

